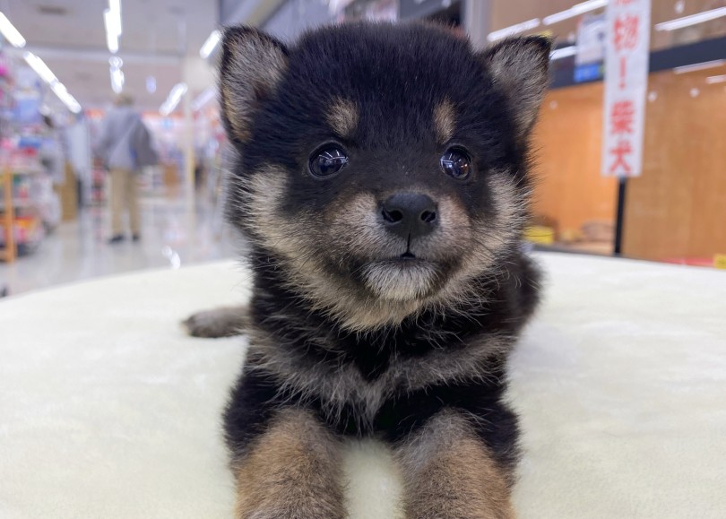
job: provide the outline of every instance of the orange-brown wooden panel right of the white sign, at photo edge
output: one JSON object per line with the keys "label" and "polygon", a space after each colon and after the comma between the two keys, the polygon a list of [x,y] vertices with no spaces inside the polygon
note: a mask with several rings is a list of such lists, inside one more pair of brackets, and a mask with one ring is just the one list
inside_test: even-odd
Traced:
{"label": "orange-brown wooden panel right of the white sign, at photo edge", "polygon": [[652,74],[643,177],[628,181],[625,255],[662,260],[726,251],[726,91],[690,74]]}

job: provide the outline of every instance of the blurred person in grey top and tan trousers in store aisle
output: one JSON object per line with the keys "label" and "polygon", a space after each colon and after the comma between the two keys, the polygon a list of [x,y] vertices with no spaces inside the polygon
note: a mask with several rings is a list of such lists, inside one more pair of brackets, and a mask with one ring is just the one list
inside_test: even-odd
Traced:
{"label": "blurred person in grey top and tan trousers in store aisle", "polygon": [[145,166],[158,163],[151,145],[151,134],[141,114],[134,109],[134,98],[119,94],[114,108],[103,120],[96,154],[103,160],[111,177],[111,238],[114,244],[124,240],[123,213],[128,212],[131,238],[141,238],[138,173]]}

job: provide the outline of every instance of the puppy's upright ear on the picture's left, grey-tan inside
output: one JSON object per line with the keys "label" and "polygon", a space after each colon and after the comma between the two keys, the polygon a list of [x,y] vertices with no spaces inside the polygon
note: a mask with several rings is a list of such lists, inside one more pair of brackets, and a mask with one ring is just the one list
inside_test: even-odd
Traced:
{"label": "puppy's upright ear on the picture's left, grey-tan inside", "polygon": [[224,31],[220,105],[230,140],[249,140],[255,111],[275,90],[287,63],[288,49],[264,32],[245,26]]}

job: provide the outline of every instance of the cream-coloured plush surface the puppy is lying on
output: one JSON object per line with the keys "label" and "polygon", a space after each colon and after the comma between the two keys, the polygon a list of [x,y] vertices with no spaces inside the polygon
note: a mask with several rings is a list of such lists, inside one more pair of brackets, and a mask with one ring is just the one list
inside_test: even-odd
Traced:
{"label": "cream-coloured plush surface the puppy is lying on", "polygon": [[[521,518],[726,517],[726,272],[541,255],[511,363]],[[230,517],[220,411],[245,340],[177,322],[246,297],[234,264],[0,301],[0,517]],[[352,445],[351,519],[390,517],[381,447]]]}

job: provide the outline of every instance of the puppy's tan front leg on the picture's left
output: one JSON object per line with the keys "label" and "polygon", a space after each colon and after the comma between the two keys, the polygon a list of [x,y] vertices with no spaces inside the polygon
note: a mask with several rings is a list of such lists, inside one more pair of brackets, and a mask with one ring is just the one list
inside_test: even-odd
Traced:
{"label": "puppy's tan front leg on the picture's left", "polygon": [[238,519],[346,516],[338,440],[309,411],[288,409],[232,463]]}

